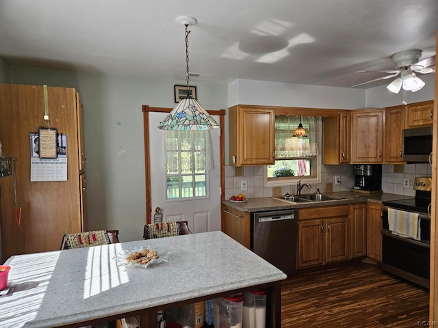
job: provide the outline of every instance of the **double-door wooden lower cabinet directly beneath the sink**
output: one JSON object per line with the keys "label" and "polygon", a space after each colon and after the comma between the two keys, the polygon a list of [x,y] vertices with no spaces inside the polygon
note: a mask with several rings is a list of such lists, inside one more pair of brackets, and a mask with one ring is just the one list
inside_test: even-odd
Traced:
{"label": "double-door wooden lower cabinet directly beneath the sink", "polygon": [[349,206],[298,210],[298,269],[348,260]]}

